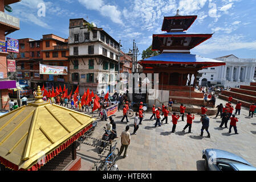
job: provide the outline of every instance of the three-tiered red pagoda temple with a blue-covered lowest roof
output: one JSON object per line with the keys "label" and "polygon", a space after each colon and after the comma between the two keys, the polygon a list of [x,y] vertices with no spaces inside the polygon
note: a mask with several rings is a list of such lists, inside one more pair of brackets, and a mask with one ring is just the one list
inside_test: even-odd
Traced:
{"label": "three-tiered red pagoda temple with a blue-covered lowest roof", "polygon": [[[194,91],[198,71],[225,63],[190,54],[190,49],[213,35],[186,32],[196,18],[196,15],[178,15],[178,11],[176,16],[165,16],[162,31],[166,32],[153,34],[152,42],[152,49],[160,51],[161,54],[141,60],[139,63],[143,66],[144,73],[159,73],[159,89],[170,90],[170,98],[184,104],[202,105],[202,93]],[[189,88],[190,85],[193,87]],[[188,98],[178,98],[176,93],[178,97]],[[200,98],[200,101],[196,98]]]}

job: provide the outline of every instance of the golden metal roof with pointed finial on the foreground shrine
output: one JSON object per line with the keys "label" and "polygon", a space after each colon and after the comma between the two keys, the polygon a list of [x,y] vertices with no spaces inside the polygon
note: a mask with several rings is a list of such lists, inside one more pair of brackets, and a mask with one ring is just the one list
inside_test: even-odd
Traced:
{"label": "golden metal roof with pointed finial on the foreground shrine", "polygon": [[50,154],[95,119],[67,109],[40,96],[34,103],[0,117],[0,157],[29,169],[42,156]]}

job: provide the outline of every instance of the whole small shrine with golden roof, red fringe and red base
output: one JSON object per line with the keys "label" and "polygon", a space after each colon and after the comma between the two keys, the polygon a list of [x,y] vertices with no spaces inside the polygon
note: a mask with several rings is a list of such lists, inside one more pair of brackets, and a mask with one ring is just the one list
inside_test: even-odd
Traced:
{"label": "whole small shrine with golden roof, red fringe and red base", "polygon": [[78,170],[76,140],[95,120],[90,115],[37,99],[0,117],[1,171]]}

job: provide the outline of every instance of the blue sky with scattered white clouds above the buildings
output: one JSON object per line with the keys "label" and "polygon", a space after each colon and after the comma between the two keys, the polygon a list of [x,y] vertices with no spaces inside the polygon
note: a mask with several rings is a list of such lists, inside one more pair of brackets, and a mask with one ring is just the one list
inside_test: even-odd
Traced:
{"label": "blue sky with scattered white clouds above the buildings", "polygon": [[[46,5],[46,16],[38,16],[38,4]],[[10,38],[40,39],[43,34],[68,38],[71,18],[84,18],[121,40],[123,51],[135,39],[140,52],[152,44],[152,34],[161,33],[164,16],[198,15],[188,32],[213,33],[192,53],[214,58],[234,54],[256,58],[255,0],[22,0],[11,5],[21,19],[21,30]]]}

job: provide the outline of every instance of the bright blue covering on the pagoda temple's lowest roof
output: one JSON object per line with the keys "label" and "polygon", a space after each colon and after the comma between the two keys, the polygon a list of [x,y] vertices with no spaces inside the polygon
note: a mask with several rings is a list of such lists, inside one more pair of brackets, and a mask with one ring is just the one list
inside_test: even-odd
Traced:
{"label": "bright blue covering on the pagoda temple's lowest roof", "polygon": [[214,59],[209,59],[201,57],[198,55],[192,55],[190,53],[162,53],[161,55],[149,57],[141,61],[166,61],[166,62],[184,62],[184,63],[225,63],[224,61],[218,61]]}

